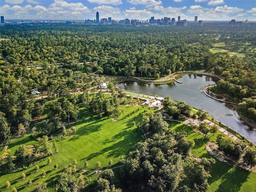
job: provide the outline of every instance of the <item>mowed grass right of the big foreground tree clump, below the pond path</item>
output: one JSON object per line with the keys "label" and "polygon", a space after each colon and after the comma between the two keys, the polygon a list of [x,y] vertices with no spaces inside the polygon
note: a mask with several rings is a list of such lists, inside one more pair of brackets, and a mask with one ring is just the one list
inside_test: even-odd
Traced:
{"label": "mowed grass right of the big foreground tree clump, below the pond path", "polygon": [[[195,141],[195,147],[192,152],[197,157],[207,157],[212,156],[206,151],[205,144],[212,140],[215,141],[218,133],[209,134],[204,137],[202,134],[198,134],[191,130],[185,124],[177,122],[168,122],[170,128],[176,132],[186,131],[188,133],[188,139]],[[216,159],[216,163],[212,164],[212,177],[208,180],[210,189],[208,192],[254,192],[256,191],[256,173],[248,172],[239,167],[235,167]]]}

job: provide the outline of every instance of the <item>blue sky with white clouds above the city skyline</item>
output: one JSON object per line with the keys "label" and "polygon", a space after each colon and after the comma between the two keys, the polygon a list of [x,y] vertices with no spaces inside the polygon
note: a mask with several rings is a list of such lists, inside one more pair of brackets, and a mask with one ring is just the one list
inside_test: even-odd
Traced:
{"label": "blue sky with white clouds above the city skyline", "polygon": [[256,0],[0,0],[5,19],[147,20],[181,16],[193,20],[256,20]]}

